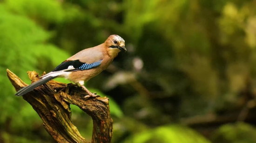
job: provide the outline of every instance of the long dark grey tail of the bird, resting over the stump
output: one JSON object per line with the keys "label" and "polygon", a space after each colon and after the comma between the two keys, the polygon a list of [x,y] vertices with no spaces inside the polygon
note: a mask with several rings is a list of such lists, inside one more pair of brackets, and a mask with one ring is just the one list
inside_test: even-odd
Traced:
{"label": "long dark grey tail of the bird, resting over the stump", "polygon": [[44,77],[42,79],[40,79],[39,81],[35,81],[34,83],[28,85],[27,87],[23,87],[22,89],[20,89],[15,95],[17,96],[22,96],[30,91],[32,91],[34,88],[39,87],[40,85],[51,81],[52,79],[56,78],[57,76],[47,76]]}

